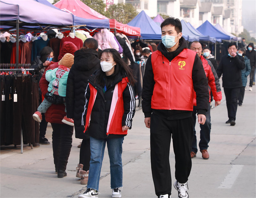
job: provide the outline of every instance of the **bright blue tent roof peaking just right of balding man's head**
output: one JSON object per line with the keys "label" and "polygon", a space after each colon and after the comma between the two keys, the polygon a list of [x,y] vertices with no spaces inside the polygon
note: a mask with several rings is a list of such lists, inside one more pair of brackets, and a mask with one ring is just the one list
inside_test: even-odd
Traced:
{"label": "bright blue tent roof peaking just right of balding man's head", "polygon": [[206,20],[201,26],[196,28],[203,35],[208,35],[216,38],[216,41],[230,40],[231,37],[222,33],[220,30],[215,28],[208,20]]}

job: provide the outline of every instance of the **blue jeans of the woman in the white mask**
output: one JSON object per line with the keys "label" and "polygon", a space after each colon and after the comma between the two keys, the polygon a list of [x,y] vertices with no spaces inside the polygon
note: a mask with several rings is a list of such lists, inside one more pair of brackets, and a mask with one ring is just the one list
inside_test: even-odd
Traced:
{"label": "blue jeans of the woman in the white mask", "polygon": [[111,189],[123,186],[122,144],[124,137],[95,139],[90,137],[91,161],[87,188],[99,190],[100,170],[107,142],[110,161],[110,187]]}

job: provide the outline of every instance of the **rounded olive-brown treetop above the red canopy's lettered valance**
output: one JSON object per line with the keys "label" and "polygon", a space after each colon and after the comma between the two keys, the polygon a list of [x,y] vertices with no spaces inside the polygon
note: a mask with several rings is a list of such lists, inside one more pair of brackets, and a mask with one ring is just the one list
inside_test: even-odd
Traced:
{"label": "rounded olive-brown treetop above the red canopy's lettered valance", "polygon": [[105,16],[109,19],[115,19],[120,23],[127,24],[136,17],[137,14],[138,12],[132,4],[114,4],[109,6]]}

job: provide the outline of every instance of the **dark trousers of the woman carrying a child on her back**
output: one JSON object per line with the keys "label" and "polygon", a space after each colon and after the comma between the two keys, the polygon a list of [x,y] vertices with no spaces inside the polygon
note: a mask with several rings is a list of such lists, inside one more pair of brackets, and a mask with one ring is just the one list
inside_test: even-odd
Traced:
{"label": "dark trousers of the woman carrying a child on her back", "polygon": [[55,168],[66,170],[68,157],[72,147],[73,126],[67,124],[51,123],[52,150]]}

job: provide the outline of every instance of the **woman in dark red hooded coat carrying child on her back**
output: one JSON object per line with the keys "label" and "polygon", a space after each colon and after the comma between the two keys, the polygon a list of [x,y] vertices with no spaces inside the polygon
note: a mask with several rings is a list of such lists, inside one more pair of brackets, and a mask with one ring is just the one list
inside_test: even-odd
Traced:
{"label": "woman in dark red hooded coat carrying child on her back", "polygon": [[66,167],[68,163],[68,157],[72,147],[72,135],[74,127],[62,123],[62,119],[66,116],[65,105],[62,104],[63,97],[57,95],[49,95],[48,85],[49,82],[45,79],[45,73],[49,69],[55,69],[59,65],[71,67],[74,63],[74,53],[77,51],[76,45],[71,42],[64,42],[59,55],[59,62],[56,62],[44,70],[44,74],[39,82],[42,94],[45,99],[53,104],[47,109],[45,113],[45,120],[52,125],[52,150],[53,160],[55,164],[55,172],[58,173],[58,178],[67,176]]}

